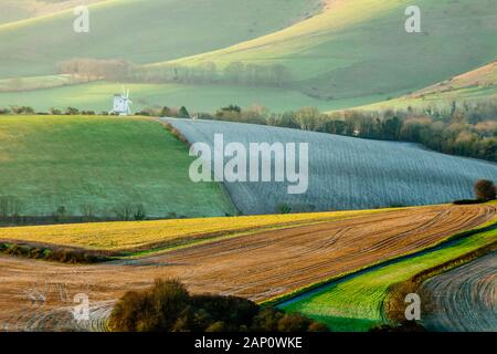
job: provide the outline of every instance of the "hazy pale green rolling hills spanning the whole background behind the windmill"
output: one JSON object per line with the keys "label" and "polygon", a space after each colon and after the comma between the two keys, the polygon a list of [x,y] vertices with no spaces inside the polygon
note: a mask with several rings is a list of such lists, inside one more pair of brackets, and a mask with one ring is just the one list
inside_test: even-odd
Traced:
{"label": "hazy pale green rolling hills spanning the whole background behind the windmill", "polygon": [[[281,64],[290,74],[282,86],[254,87],[222,80],[214,85],[127,84],[137,108],[186,105],[192,111],[213,111],[229,104],[260,104],[278,112],[302,106],[335,111],[423,90],[480,67],[497,55],[493,45],[497,9],[491,0],[420,0],[422,33],[416,34],[404,31],[404,10],[412,4],[408,0],[330,0],[326,8],[318,0],[141,2],[113,0],[92,6],[94,28],[86,37],[64,31],[72,13],[0,25],[4,49],[0,67],[9,67],[0,69],[0,79],[39,76],[39,81],[54,83],[51,75],[56,62],[74,56],[126,59],[159,70],[209,62],[216,65],[219,76],[233,62]],[[112,87],[119,85],[80,84],[27,92],[27,96],[4,92],[0,106],[107,110]],[[487,96],[488,88],[476,93],[470,87],[457,94]]]}

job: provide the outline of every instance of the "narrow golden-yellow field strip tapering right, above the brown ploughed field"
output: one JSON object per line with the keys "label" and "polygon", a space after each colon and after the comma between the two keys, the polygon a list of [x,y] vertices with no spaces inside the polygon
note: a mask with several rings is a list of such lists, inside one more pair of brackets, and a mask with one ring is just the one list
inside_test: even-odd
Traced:
{"label": "narrow golden-yellow field strip tapering right, above the brown ploughed field", "polygon": [[[383,209],[384,210],[384,209]],[[0,228],[0,240],[43,242],[98,250],[125,250],[209,236],[346,219],[377,212],[336,211],[231,218],[99,222]]]}

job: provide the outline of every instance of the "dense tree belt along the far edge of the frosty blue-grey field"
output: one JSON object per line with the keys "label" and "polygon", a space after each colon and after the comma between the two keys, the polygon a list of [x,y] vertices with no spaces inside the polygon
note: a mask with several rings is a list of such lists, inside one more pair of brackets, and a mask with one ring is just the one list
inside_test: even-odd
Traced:
{"label": "dense tree belt along the far edge of the frosty blue-grey field", "polygon": [[405,111],[345,111],[322,114],[315,107],[271,114],[253,106],[242,110],[230,105],[207,119],[266,124],[353,137],[411,142],[445,154],[497,162],[497,103],[464,103],[451,108]]}

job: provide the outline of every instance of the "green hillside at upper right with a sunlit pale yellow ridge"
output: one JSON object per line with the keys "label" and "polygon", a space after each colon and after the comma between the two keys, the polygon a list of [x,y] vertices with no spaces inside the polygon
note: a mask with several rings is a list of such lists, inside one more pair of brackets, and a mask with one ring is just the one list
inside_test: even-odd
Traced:
{"label": "green hillside at upper right with a sunlit pale yellow ridge", "polygon": [[420,0],[423,34],[404,31],[410,4],[337,1],[283,31],[180,62],[281,62],[293,70],[299,87],[342,98],[414,91],[495,58],[491,0]]}

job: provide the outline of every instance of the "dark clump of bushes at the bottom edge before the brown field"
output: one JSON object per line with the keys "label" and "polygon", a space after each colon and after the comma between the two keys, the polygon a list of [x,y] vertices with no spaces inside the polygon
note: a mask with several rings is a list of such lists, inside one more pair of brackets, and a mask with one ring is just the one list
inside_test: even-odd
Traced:
{"label": "dark clump of bushes at the bottom edge before the brown field", "polygon": [[115,305],[109,327],[118,332],[306,332],[328,331],[299,314],[261,308],[219,295],[190,295],[178,280],[156,280],[142,292],[128,292]]}

